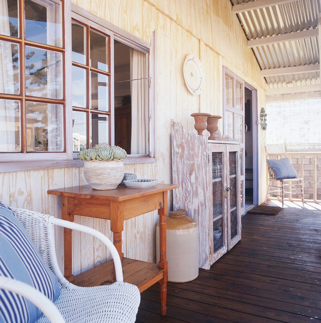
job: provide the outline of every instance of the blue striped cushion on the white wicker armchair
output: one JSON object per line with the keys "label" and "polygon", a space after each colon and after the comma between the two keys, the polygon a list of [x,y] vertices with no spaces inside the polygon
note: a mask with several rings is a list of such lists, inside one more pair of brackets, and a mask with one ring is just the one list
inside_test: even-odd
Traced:
{"label": "blue striped cushion on the white wicker armchair", "polygon": [[[12,210],[1,202],[0,275],[35,287],[53,302],[60,295],[57,277],[43,262]],[[0,289],[0,322],[35,322],[40,314],[26,298]]]}

